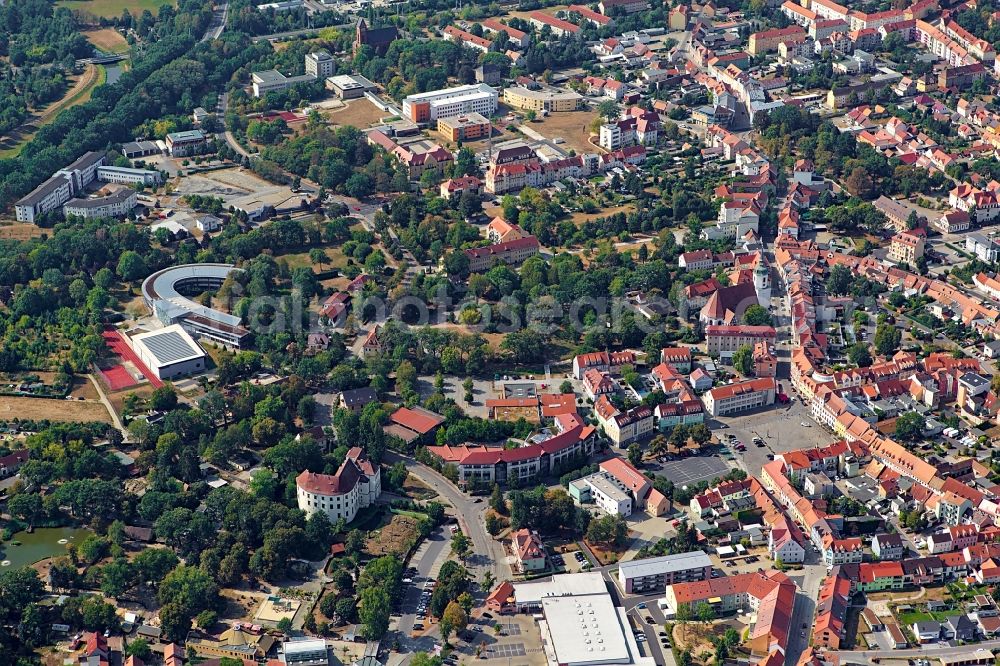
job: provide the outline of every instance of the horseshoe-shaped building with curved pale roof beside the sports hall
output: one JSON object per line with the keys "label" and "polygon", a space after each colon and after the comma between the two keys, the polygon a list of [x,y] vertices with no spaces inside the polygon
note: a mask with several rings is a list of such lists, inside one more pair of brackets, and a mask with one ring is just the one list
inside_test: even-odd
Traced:
{"label": "horseshoe-shaped building with curved pale roof beside the sports hall", "polygon": [[232,264],[184,264],[157,271],[142,283],[142,298],[165,326],[184,330],[231,347],[241,347],[250,331],[231,314],[200,305],[184,294],[214,291],[226,277],[240,270]]}

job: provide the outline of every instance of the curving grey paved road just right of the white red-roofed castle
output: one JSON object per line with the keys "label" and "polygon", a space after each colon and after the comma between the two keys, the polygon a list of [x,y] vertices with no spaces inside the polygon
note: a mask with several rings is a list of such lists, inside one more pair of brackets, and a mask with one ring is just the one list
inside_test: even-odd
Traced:
{"label": "curving grey paved road just right of the white red-roofed castle", "polygon": [[490,537],[483,524],[482,513],[486,502],[477,503],[441,474],[409,456],[395,451],[387,451],[385,462],[389,465],[402,461],[410,474],[420,479],[437,492],[442,499],[452,505],[458,518],[459,527],[472,541],[472,555],[466,559],[466,566],[474,580],[480,580],[487,570],[493,572],[494,579],[510,580],[511,571],[507,565],[503,547]]}

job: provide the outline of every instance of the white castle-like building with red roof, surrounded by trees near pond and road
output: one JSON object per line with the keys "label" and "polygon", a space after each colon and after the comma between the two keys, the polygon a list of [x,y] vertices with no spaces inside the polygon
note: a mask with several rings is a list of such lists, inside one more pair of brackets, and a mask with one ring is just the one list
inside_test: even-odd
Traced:
{"label": "white castle-like building with red roof, surrounded by trees near pond and road", "polygon": [[341,518],[351,522],[382,494],[382,472],[360,447],[347,453],[336,474],[314,474],[308,470],[295,478],[299,508],[306,516],[322,511],[331,523]]}

